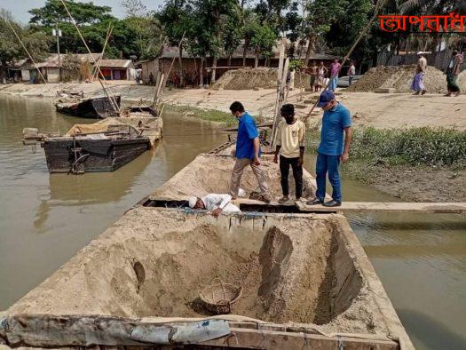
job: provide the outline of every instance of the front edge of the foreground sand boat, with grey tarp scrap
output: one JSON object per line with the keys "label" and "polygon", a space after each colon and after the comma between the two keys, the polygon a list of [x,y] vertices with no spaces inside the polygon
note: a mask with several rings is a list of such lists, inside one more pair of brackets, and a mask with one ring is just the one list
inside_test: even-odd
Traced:
{"label": "front edge of the foreground sand boat, with grey tarp scrap", "polygon": [[[273,324],[254,330],[242,328],[241,323],[217,317],[141,322],[104,315],[13,314],[2,318],[0,339],[14,347],[196,344],[249,349],[399,349],[396,341],[374,334],[321,335],[305,328],[272,330]],[[251,326],[251,322],[244,323]]]}

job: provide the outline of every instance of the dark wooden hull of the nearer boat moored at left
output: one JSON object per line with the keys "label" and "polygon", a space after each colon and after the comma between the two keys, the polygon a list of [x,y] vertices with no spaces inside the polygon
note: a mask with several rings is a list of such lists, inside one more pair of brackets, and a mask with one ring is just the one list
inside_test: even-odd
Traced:
{"label": "dark wooden hull of the nearer boat moored at left", "polygon": [[[148,138],[135,139],[54,139],[45,140],[43,149],[50,173],[74,172],[75,163],[83,172],[115,171],[150,148]],[[75,149],[76,154],[75,154]],[[76,169],[76,167],[75,167]]]}

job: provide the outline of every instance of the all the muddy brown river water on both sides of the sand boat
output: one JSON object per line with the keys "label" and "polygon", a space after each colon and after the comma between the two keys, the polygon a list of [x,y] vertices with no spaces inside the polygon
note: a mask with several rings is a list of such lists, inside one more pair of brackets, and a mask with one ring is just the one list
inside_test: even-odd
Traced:
{"label": "all the muddy brown river water on both sides of the sand boat", "polygon": [[[142,197],[225,141],[210,123],[165,115],[153,152],[115,172],[49,175],[43,149],[21,143],[24,127],[66,131],[86,119],[58,115],[51,99],[0,96],[0,310],[75,255]],[[305,166],[313,173],[313,157]],[[344,179],[349,201],[396,201]],[[417,348],[466,348],[466,218],[349,216]]]}

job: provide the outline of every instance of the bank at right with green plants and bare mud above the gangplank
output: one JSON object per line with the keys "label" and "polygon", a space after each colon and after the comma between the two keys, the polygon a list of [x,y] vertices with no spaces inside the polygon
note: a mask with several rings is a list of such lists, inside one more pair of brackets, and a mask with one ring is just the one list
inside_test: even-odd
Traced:
{"label": "bank at right with green plants and bare mud above the gangplank", "polygon": [[[317,133],[309,135],[315,152]],[[411,128],[355,130],[345,175],[413,202],[466,197],[466,132]]]}

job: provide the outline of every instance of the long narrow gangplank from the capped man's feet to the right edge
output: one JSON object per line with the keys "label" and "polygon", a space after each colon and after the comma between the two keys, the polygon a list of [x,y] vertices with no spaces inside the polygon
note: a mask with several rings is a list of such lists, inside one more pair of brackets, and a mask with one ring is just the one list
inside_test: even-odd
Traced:
{"label": "long narrow gangplank from the capped man's feet to the right edge", "polygon": [[462,214],[466,213],[466,203],[378,203],[378,202],[344,202],[342,206],[335,208],[323,205],[307,205],[296,203],[300,211],[322,212],[406,212],[428,214]]}

